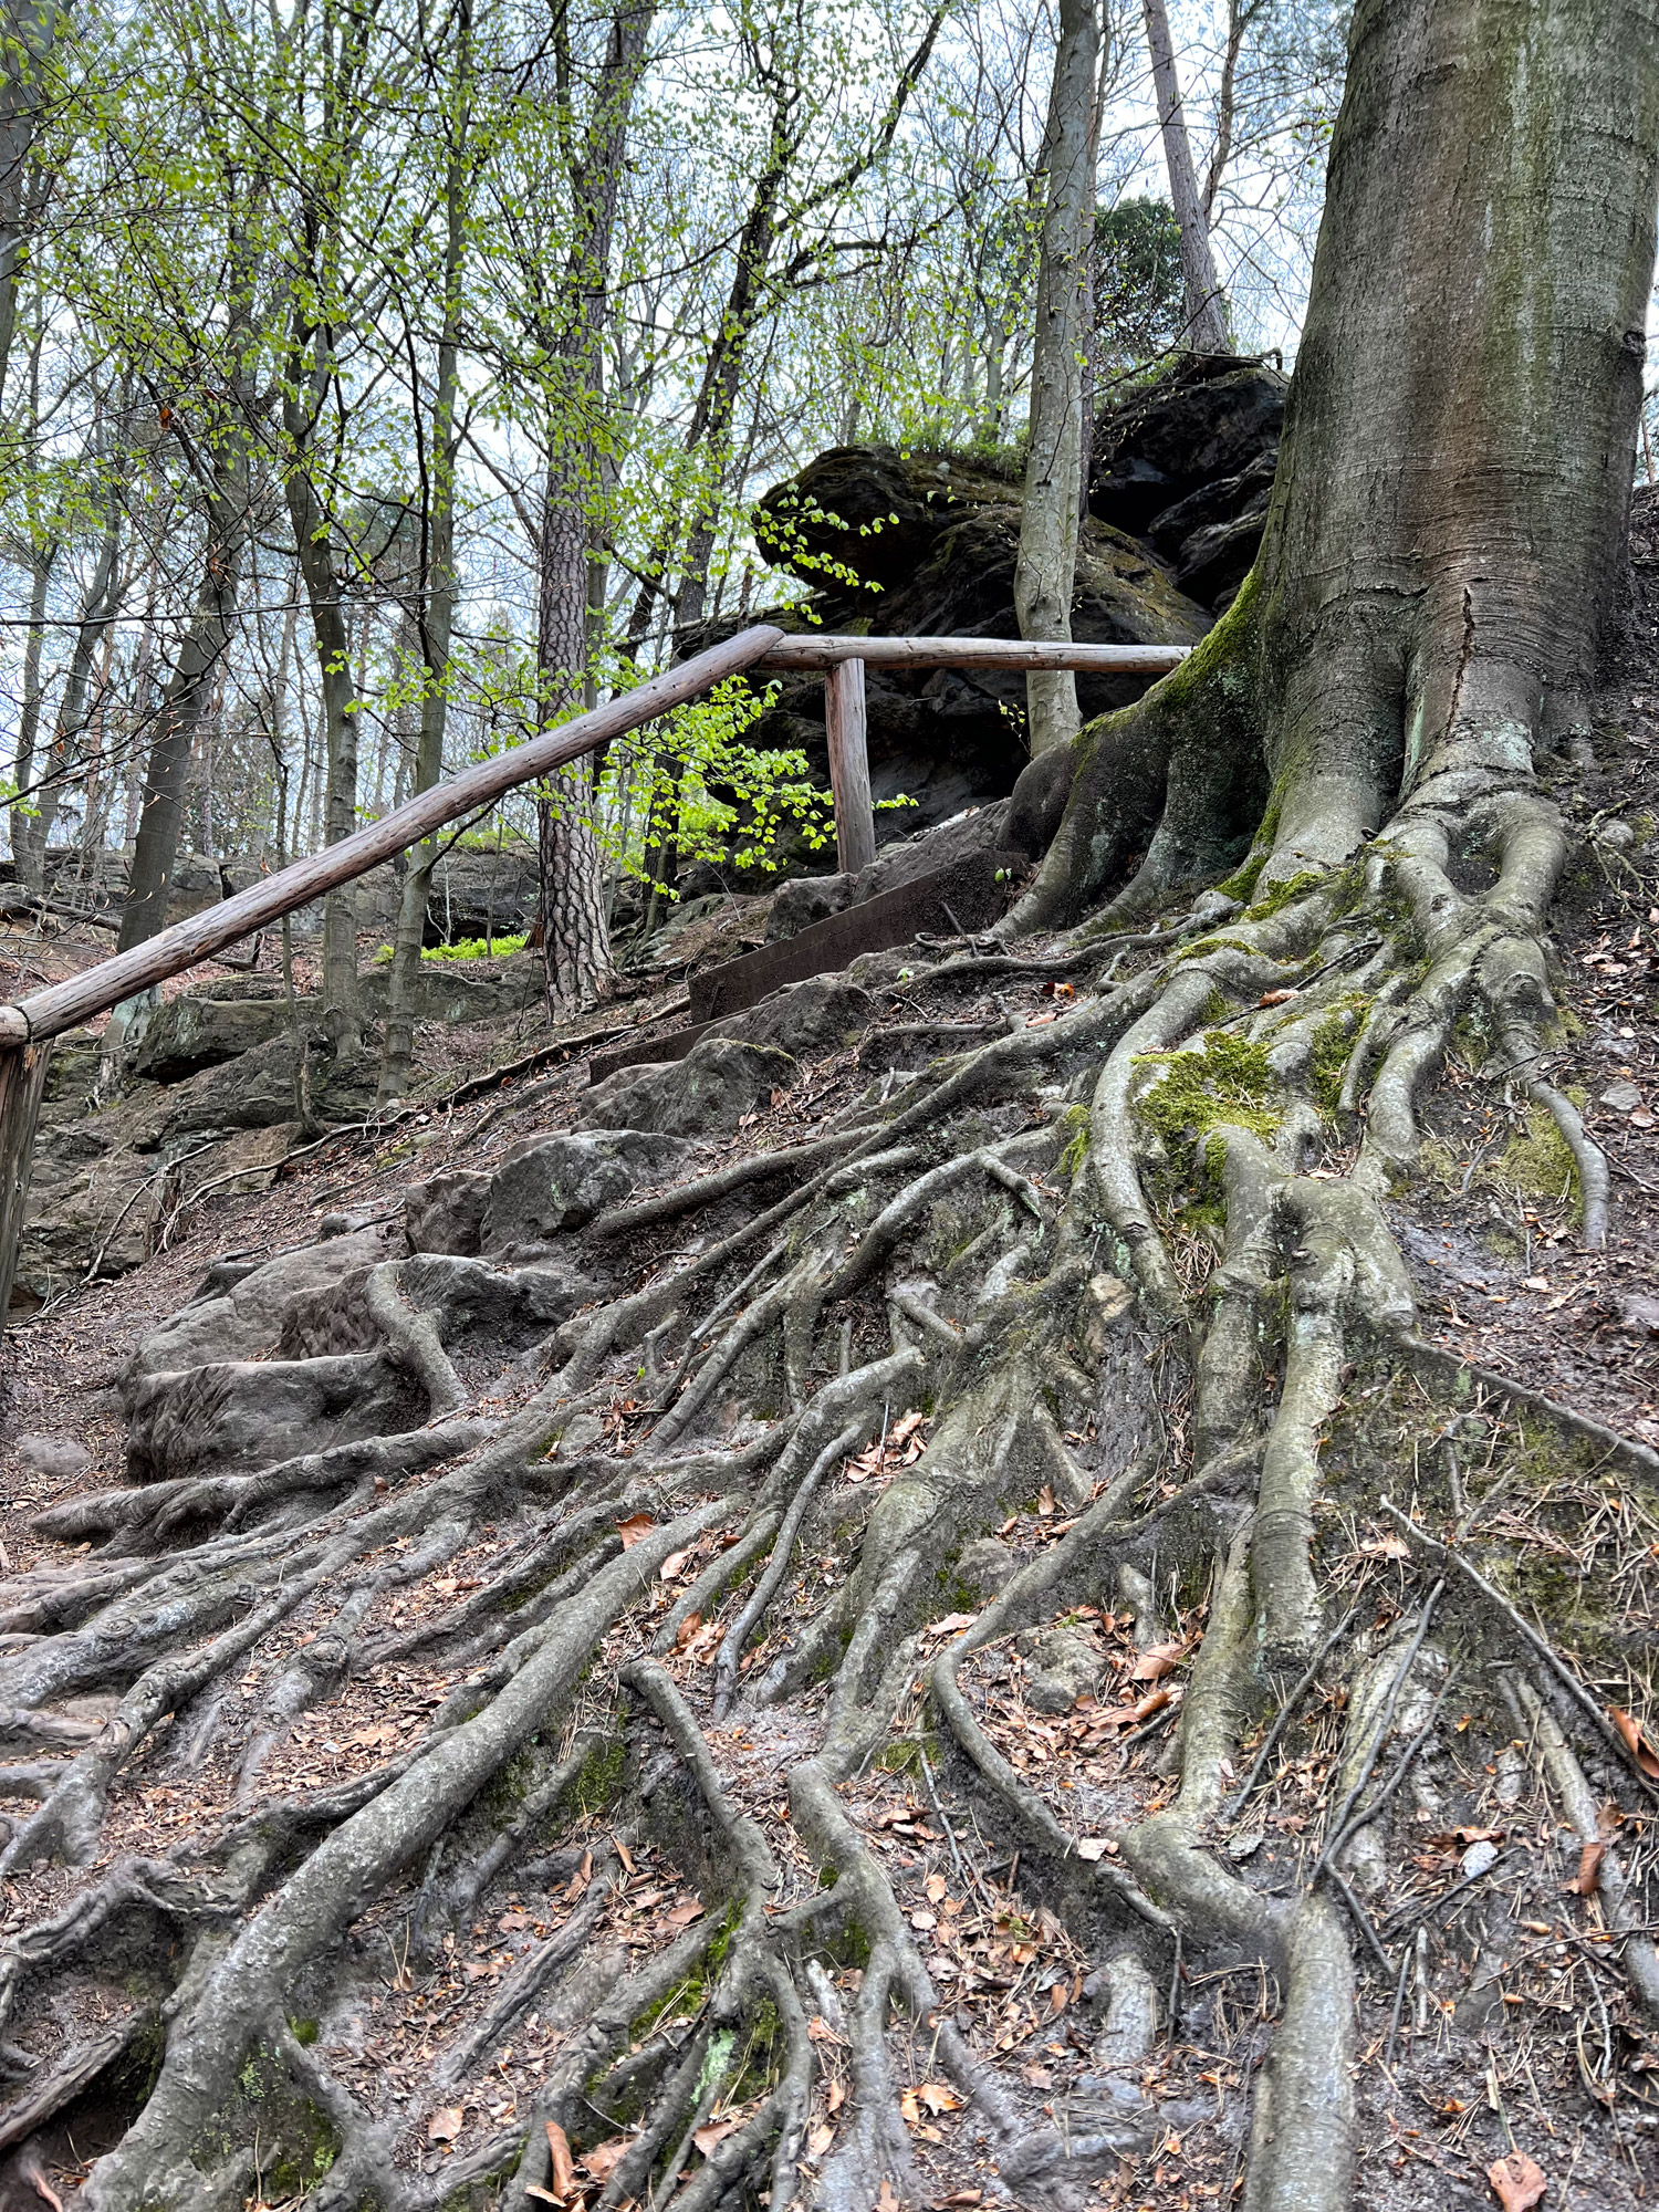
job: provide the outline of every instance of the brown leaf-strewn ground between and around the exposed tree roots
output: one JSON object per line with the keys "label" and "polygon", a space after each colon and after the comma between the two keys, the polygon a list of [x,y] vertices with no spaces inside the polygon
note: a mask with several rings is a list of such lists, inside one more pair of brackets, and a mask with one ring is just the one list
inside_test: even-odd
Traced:
{"label": "brown leaf-strewn ground between and around the exposed tree roots", "polygon": [[[1646,529],[1646,524],[1644,524]],[[1659,555],[1644,529],[1639,557]],[[1553,945],[1559,958],[1559,998],[1571,1042],[1551,1079],[1582,1099],[1586,1126],[1604,1146],[1613,1175],[1613,1232],[1606,1250],[1586,1252],[1573,1221],[1573,1192],[1553,1181],[1559,1148],[1491,1082],[1475,1057],[1455,1053],[1427,1106],[1431,1144],[1416,1186],[1391,1201],[1389,1219],[1400,1241],[1418,1298],[1418,1329],[1475,1371],[1462,1413],[1440,1422],[1438,1436],[1467,1438],[1458,1482],[1482,1489],[1489,1528],[1495,1526],[1500,1489],[1504,1533],[1522,1548],[1537,1548],[1571,1582],[1641,1577],[1659,1559],[1659,1482],[1644,1482],[1624,1464],[1608,1473],[1606,1455],[1562,1462],[1542,1484],[1515,1482],[1513,1469],[1542,1464],[1537,1429],[1526,1418],[1526,1391],[1573,1407],[1593,1422],[1659,1449],[1659,876],[1652,825],[1659,823],[1659,571],[1639,568],[1637,648],[1619,686],[1608,695],[1595,759],[1564,768],[1557,796],[1575,823],[1595,830],[1617,816],[1635,823],[1615,838],[1582,847],[1573,878],[1555,907]],[[1652,597],[1652,604],[1650,604]],[[1648,821],[1646,858],[1641,821]],[[646,1024],[672,1026],[684,991],[684,962],[708,951],[734,951],[759,940],[763,902],[732,907],[684,931],[661,969],[630,980],[628,1000],[549,1031],[542,1015],[513,1026],[476,1031],[427,1029],[418,1097],[396,1126],[343,1133],[283,1170],[257,1194],[204,1201],[181,1223],[173,1245],[115,1283],[93,1283],[49,1307],[7,1338],[7,1398],[0,1413],[0,1584],[20,1588],[27,1577],[73,1573],[88,1544],[44,1537],[33,1517],[66,1498],[86,1498],[124,1482],[126,1438],[115,1378],[146,1334],[175,1314],[215,1261],[246,1254],[272,1256],[310,1243],[319,1232],[361,1230],[400,1214],[407,1192],[447,1170],[500,1166],[526,1137],[568,1128],[586,1088],[586,1051],[615,1044]],[[1033,947],[1035,953],[1042,947]],[[77,947],[49,947],[40,956],[58,969],[80,958]],[[770,1110],[757,1113],[730,1139],[699,1146],[690,1166],[701,1175],[810,1141],[836,1113],[872,1086],[872,1075],[902,1053],[891,1042],[927,1024],[1002,1022],[1040,1029],[1055,1020],[1055,987],[1037,978],[989,978],[967,995],[940,989],[927,973],[900,980],[896,962],[865,962],[863,978],[876,1013],[856,1046],[812,1064],[803,1079]],[[1064,991],[1064,987],[1062,987]],[[885,1048],[889,1040],[891,1048]],[[568,1057],[553,1057],[568,1048]],[[540,1055],[538,1066],[504,1086],[449,1104],[449,1093],[491,1066]],[[1064,1099],[1037,1099],[1006,1124],[1042,1128],[1064,1113]],[[1338,1175],[1340,1148],[1316,1161],[1312,1177]],[[1048,1183],[1037,1177],[1037,1190]],[[330,1219],[334,1217],[334,1219]],[[341,1219],[343,1217],[343,1219]],[[626,1248],[624,1287],[648,1285],[677,1254],[670,1232],[646,1230]],[[1177,1263],[1190,1290],[1214,1265],[1201,1237],[1175,1232]],[[867,1352],[865,1356],[876,1356]],[[1491,1385],[1480,1374],[1491,1376]],[[1517,1396],[1502,1389],[1515,1385]],[[524,1376],[500,1380],[480,1411],[507,1416],[531,1396]],[[639,1391],[641,1400],[648,1391]],[[1179,1385],[1161,1391],[1164,1418],[1179,1425]],[[1332,1422],[1325,1453],[1327,1506],[1347,1531],[1352,1613],[1376,1617],[1380,1635],[1411,1604],[1409,1551],[1374,1515],[1360,1475],[1391,1458],[1391,1489],[1405,1504],[1416,1495],[1422,1407],[1429,1389],[1411,1371],[1363,1367]],[[931,1409],[936,1416],[938,1409]],[[814,1522],[792,1573],[794,1604],[774,1615],[772,1632],[743,1659],[752,1679],[787,1655],[807,1632],[836,1588],[854,1573],[856,1531],[869,1502],[889,1489],[922,1453],[931,1418],[925,1405],[894,1402],[880,1440],[849,1453],[830,1475],[834,1511]],[[748,1427],[732,1413],[732,1449]],[[644,1431],[644,1407],[615,1389],[595,1420],[615,1460],[626,1460]],[[1044,1555],[1119,1473],[1106,1458],[1102,1433],[1082,1422],[1066,1433],[1075,1462],[1093,1486],[1084,1500],[1055,1498],[1040,1486],[987,1535],[1015,1566]],[[1398,1436],[1398,1442],[1396,1442]],[[46,1449],[42,1451],[42,1440]],[[22,1449],[20,1449],[22,1447]],[[571,1449],[571,1438],[566,1438]],[[1179,1453],[1177,1453],[1179,1458]],[[1427,1471],[1425,1471],[1427,1473]],[[1533,1467],[1537,1473],[1537,1467]],[[1491,1478],[1491,1480],[1486,1480]],[[664,1515],[666,1517],[666,1515]],[[653,1526],[637,1515],[619,1528],[628,1546]],[[392,1551],[418,1537],[398,1537]],[[582,1683],[566,1714],[564,1743],[595,1741],[617,1712],[617,1674],[639,1657],[670,1617],[681,1593],[717,1559],[721,1533],[710,1526],[666,1557],[646,1595],[602,1639],[599,1663]],[[270,1747],[259,1772],[261,1801],[296,1801],[338,1792],[352,1778],[405,1754],[422,1741],[434,1717],[465,1679],[467,1659],[440,1637],[422,1644],[422,1624],[451,1615],[467,1593],[491,1579],[522,1551],[524,1528],[484,1524],[465,1548],[434,1573],[398,1588],[380,1615],[396,1655],[365,1672],[349,1672],[330,1697],[307,1705]],[[1540,1584],[1542,1588],[1542,1584]],[[960,1590],[949,1610],[929,1621],[918,1646],[916,1683],[902,1694],[887,1745],[847,1778],[838,1798],[887,1878],[894,1898],[927,1960],[940,2011],[929,2022],[900,2015],[885,2031],[896,2084],[898,2124],[909,2137],[914,2205],[1029,2205],[1018,2179],[998,2172],[995,2146],[980,2115],[960,2095],[960,2070],[940,2059],[942,2026],[960,2033],[975,2062],[1000,2070],[1037,2124],[1053,2119],[1062,2135],[1113,2137],[1110,2112],[1121,2126],[1115,2159],[1093,2185],[1091,2203],[1159,2212],[1197,2212],[1237,2199],[1248,2132],[1248,2093],[1261,2066],[1279,1993],[1263,1971],[1177,1969],[1157,2000],[1172,2033],[1133,2068],[1113,2064],[1102,2028],[1104,1993],[1088,1931],[1075,1913],[1037,1885],[1022,1887],[1020,1849],[1006,1823],[989,1818],[984,1794],[964,1783],[960,1767],[929,1759],[920,1683],[925,1661],[960,1630],[982,1601]],[[967,1610],[962,1610],[967,1608]],[[1540,1608],[1544,1610],[1544,1608]],[[248,1725],[237,1725],[234,1701],[259,1708],[270,1686],[314,1641],[323,1599],[290,1613],[259,1650],[257,1666],[232,1683],[208,1719],[201,1754],[181,1759],[166,1728],[142,1756],[111,1783],[108,1812],[88,1867],[35,1865],[7,1878],[0,1938],[64,1909],[88,1885],[106,1878],[128,1856],[155,1860],[173,1854],[184,1871],[206,1865],[219,1838],[246,1814],[239,1785]],[[741,1705],[737,1719],[714,1717],[714,1661],[732,1606],[708,1624],[699,1615],[664,1657],[664,1672],[697,1714],[728,1807],[763,1834],[779,1867],[768,1911],[783,1913],[810,1900],[818,1885],[814,1851],[790,1805],[790,1776],[812,1756],[823,1721],[814,1694],[770,1705]],[[1544,1615],[1546,1617],[1546,1615]],[[1082,1840],[1084,1858],[1115,1851],[1104,1838],[1117,1823],[1157,1812],[1172,1792],[1166,1741],[1157,1730],[1157,1688],[1179,1674],[1206,1632],[1201,1599],[1177,1601],[1164,1635],[1148,1648],[1133,1632],[1130,1613],[1102,1604],[1071,1606],[1066,1626],[1093,1648],[1099,1694],[1079,1694],[1062,1710],[1053,1697],[1033,1703],[1026,1692],[1040,1674],[1040,1650],[1029,1637],[987,1644],[962,1666],[980,1728],[1009,1767],[1055,1809]],[[1659,1621],[1648,1613],[1648,1661],[1617,1686],[1632,1701],[1635,1723],[1659,1741],[1659,1717],[1641,1701],[1639,1679],[1652,1666]],[[22,1650],[29,1635],[0,1637],[0,1650]],[[1637,1679],[1637,1688],[1630,1688]],[[1455,1681],[1447,1679],[1442,1694]],[[1606,1692],[1613,1694],[1610,1690]],[[1334,1790],[1338,1719],[1345,1692],[1316,1699],[1287,1739],[1279,1772],[1228,1843],[1237,1865],[1254,1860],[1256,1887],[1287,1893],[1316,1851],[1321,1814]],[[230,1719],[226,1721],[226,1703]],[[102,1721],[108,1694],[60,1699],[58,1712]],[[1042,1708],[1042,1710],[1040,1710]],[[1133,1712],[1130,1712],[1133,1708]],[[1455,1708],[1455,1699],[1453,1699]],[[1451,1710],[1451,1708],[1449,1708]],[[1121,1743],[1126,1714],[1135,1719]],[[1548,2185],[1546,2203],[1562,2208],[1635,2205],[1659,2194],[1659,2031],[1641,2017],[1630,1993],[1608,1971],[1601,1900],[1593,1878],[1582,1893],[1579,1845],[1562,1827],[1557,1805],[1524,1730],[1511,1736],[1491,1725],[1467,1728],[1467,1756],[1440,1767],[1411,1814],[1416,1834],[1394,1858],[1371,1896],[1380,1933],[1402,1942],[1398,1989],[1371,1975],[1360,2000],[1360,2183],[1356,2201],[1378,2212],[1416,2212],[1429,2205],[1491,2203],[1489,2168],[1504,2152],[1535,2159]],[[602,1765],[602,1761],[599,1761]],[[586,1772],[586,1770],[584,1770]],[[22,1820],[38,1792],[4,1798],[0,1812]],[[1440,1805],[1440,1816],[1425,1809]],[[509,1820],[509,1814],[502,1814]],[[1639,1885],[1659,1854],[1652,1818],[1626,1798],[1621,1847],[1628,1880]],[[478,2177],[491,2141],[535,2110],[544,2079],[560,2055],[557,2006],[502,2015],[511,2028],[491,2033],[502,1991],[562,1929],[580,1929],[595,1953],[626,1960],[666,1953],[695,1929],[717,1898],[706,1869],[677,1856],[648,1823],[622,1818],[608,1790],[580,1798],[557,1849],[511,1865],[484,1882],[473,1909],[429,1955],[411,1958],[411,1900],[387,1893],[356,1922],[354,2002],[330,2015],[321,2055],[332,2079],[385,2128],[383,2141],[400,2170],[442,2183],[447,2170]],[[429,1885],[427,1885],[429,1887]],[[1502,1891],[1504,1918],[1489,1898]],[[422,1891],[425,1896],[425,1891]],[[418,1909],[414,1913],[418,1922]],[[1416,1949],[1413,1927],[1420,1931]],[[1506,1931],[1493,1955],[1491,1929]],[[799,2188],[810,2201],[816,2177],[832,2159],[849,2099],[858,2095],[858,2048],[849,2026],[863,1966],[847,1960],[812,1982],[818,2008],[807,2035],[816,2079],[799,2157]],[[690,1982],[688,1982],[690,1986]],[[684,1997],[684,1993],[681,1993]],[[675,1997],[661,2017],[675,2017]],[[40,2068],[77,2039],[122,2015],[119,1986],[82,1975],[60,2008],[35,2008],[13,2020],[7,2035]],[[695,2006],[686,2000],[688,2022]],[[726,2070],[728,2088],[712,2106],[699,2104],[688,2130],[703,2161],[726,2139],[739,2137],[763,2104],[765,2079],[743,2055]],[[1102,2119],[1102,2110],[1108,2119]],[[128,2115],[122,2115],[119,2126]],[[0,2112],[0,2128],[4,2112]],[[111,2121],[111,2126],[117,2126]],[[73,2203],[88,2161],[108,2148],[97,2115],[86,2108],[80,2137],[40,2137],[31,2179],[22,2168],[0,2170],[0,2212],[22,2212],[46,2201],[46,2190]],[[91,2130],[91,2132],[86,2132]],[[593,2130],[591,2130],[593,2132]],[[602,2132],[602,2130],[599,2130]],[[630,2132],[577,2141],[580,2166],[549,2201],[597,2205],[608,2177],[628,2152]],[[4,2143],[0,2143],[0,2150]],[[701,2168],[699,2168],[701,2170]],[[557,2159],[555,2174],[557,2183]],[[33,2192],[33,2194],[31,2194]],[[290,2166],[254,2172],[248,2205],[299,2201],[305,2177]],[[436,2197],[431,2199],[438,2201]],[[714,2201],[712,2197],[708,2199]],[[726,2199],[737,2203],[737,2197]],[[883,2183],[869,2199],[894,2212],[900,2197]],[[1517,2199],[1531,2201],[1531,2199]],[[783,2201],[774,2201],[783,2212]]]}

